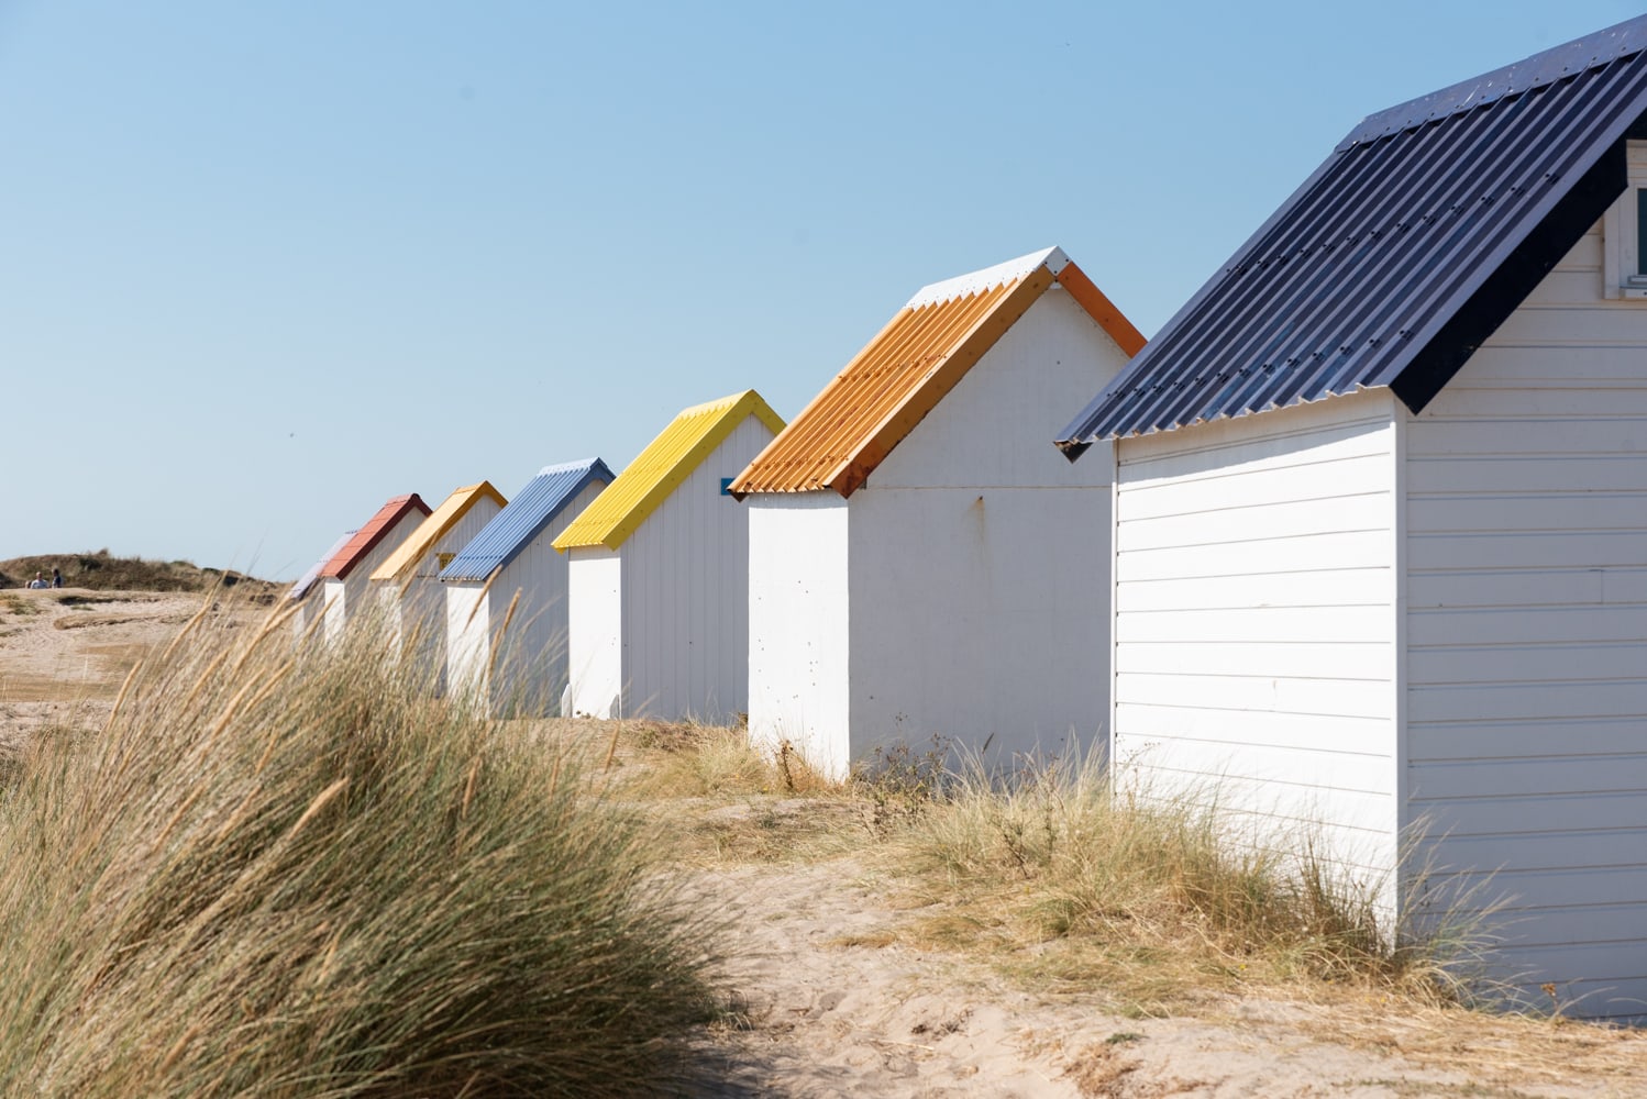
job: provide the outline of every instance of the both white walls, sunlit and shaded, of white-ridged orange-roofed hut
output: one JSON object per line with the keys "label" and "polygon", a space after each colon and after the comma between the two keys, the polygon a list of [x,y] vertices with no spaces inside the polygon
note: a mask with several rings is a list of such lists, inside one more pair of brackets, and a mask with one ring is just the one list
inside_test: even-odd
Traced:
{"label": "both white walls, sunlit and shaded, of white-ridged orange-roofed hut", "polygon": [[1125,362],[1049,290],[848,500],[748,497],[756,742],[842,777],[898,740],[1010,760],[1102,735],[1110,456],[1052,438]]}

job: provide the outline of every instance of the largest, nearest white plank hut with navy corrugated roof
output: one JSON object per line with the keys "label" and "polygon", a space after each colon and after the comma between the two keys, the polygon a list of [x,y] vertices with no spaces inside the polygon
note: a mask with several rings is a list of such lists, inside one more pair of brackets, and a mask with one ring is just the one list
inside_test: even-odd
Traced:
{"label": "largest, nearest white plank hut with navy corrugated roof", "polygon": [[1594,1017],[1647,1012],[1640,138],[1647,18],[1370,115],[1061,443],[1115,447],[1120,781],[1402,918],[1482,883]]}

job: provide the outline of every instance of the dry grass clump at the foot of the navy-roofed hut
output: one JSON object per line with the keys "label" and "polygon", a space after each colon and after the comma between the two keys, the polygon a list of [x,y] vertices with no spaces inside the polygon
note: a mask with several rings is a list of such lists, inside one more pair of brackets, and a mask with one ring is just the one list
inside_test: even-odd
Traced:
{"label": "dry grass clump at the foot of the navy-roofed hut", "polygon": [[891,839],[944,902],[912,934],[1008,951],[1039,979],[1108,987],[1141,1013],[1299,981],[1463,997],[1458,966],[1479,928],[1388,928],[1382,883],[1357,882],[1308,834],[1243,836],[1209,805],[1117,795],[1097,757],[1010,778],[965,768]]}

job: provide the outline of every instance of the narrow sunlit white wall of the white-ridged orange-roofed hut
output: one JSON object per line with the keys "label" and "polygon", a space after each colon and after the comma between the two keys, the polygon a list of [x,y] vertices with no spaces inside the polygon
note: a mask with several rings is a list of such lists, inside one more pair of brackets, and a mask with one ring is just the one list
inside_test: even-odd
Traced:
{"label": "narrow sunlit white wall of the white-ridged orange-roofed hut", "polygon": [[789,742],[845,775],[850,686],[847,500],[833,492],[744,498],[749,512],[749,740]]}

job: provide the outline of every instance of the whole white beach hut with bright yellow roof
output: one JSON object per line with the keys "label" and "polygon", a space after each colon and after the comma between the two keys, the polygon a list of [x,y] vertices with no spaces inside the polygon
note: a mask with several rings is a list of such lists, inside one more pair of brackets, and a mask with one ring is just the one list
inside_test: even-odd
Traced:
{"label": "whole white beach hut with bright yellow roof", "polygon": [[687,408],[555,538],[568,554],[562,712],[743,712],[749,523],[726,485],[782,426],[754,390]]}

